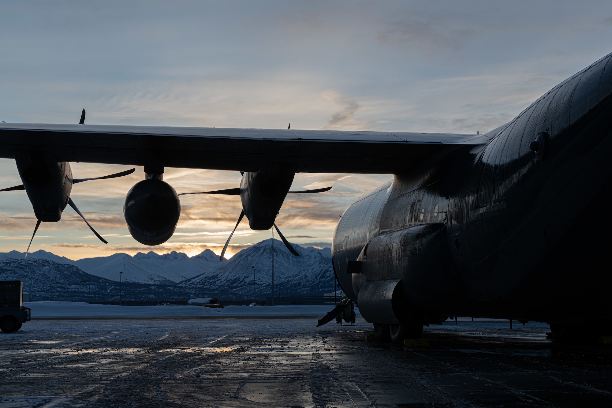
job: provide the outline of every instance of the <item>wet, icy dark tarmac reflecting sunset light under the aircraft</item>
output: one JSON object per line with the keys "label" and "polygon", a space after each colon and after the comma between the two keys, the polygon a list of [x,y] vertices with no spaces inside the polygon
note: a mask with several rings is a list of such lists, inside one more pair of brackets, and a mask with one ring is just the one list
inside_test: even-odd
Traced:
{"label": "wet, icy dark tarmac reflecting sunset light under the aircraft", "polygon": [[548,325],[445,322],[428,349],[371,325],[47,320],[0,333],[0,407],[610,407],[612,344]]}

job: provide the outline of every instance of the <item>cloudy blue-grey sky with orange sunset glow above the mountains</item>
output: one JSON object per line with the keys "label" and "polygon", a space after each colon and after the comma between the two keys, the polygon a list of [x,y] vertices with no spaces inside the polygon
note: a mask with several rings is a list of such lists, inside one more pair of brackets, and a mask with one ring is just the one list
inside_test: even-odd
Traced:
{"label": "cloudy blue-grey sky with orange sunset glow above the mountains", "polygon": [[[607,1],[4,1],[0,120],[88,124],[480,133],[612,51]],[[126,170],[71,163],[75,178]],[[70,259],[116,252],[220,253],[238,197],[181,197],[165,244],[129,235],[125,194],[143,168],[76,184],[31,251]],[[239,186],[240,173],[166,168],[178,193]],[[330,246],[338,216],[390,175],[298,173],[277,225]],[[21,184],[0,159],[0,186]],[[246,221],[246,220],[245,220]],[[271,237],[243,221],[227,256]],[[23,191],[0,196],[0,252],[25,251],[35,217]]]}

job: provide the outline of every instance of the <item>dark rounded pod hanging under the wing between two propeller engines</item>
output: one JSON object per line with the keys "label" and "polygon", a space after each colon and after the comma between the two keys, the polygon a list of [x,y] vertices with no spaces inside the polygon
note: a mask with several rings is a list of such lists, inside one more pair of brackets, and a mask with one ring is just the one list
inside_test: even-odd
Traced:
{"label": "dark rounded pod hanging under the wing between two propeller engines", "polygon": [[181,216],[179,196],[160,179],[144,179],[125,196],[123,214],[133,238],[144,245],[165,243]]}

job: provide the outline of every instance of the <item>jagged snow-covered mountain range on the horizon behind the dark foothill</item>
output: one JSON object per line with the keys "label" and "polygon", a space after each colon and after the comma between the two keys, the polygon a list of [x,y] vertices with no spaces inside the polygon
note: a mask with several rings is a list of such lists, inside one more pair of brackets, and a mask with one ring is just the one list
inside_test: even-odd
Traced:
{"label": "jagged snow-covered mountain range on the horizon behind the dark foothill", "polygon": [[[331,250],[302,247],[293,244],[300,256],[295,257],[282,241],[274,240],[275,295],[315,294],[332,292],[334,272]],[[0,253],[2,258],[23,260],[23,252]],[[219,260],[210,249],[188,257],[182,252],[158,255],[155,252],[113,254],[71,260],[47,251],[28,254],[29,260],[50,260],[54,263],[73,265],[85,273],[109,281],[133,282],[149,285],[176,285],[184,290],[223,298],[250,298],[253,296],[253,273],[258,298],[272,295],[272,240],[261,241],[243,249],[230,260]],[[253,268],[253,266],[255,268]]]}

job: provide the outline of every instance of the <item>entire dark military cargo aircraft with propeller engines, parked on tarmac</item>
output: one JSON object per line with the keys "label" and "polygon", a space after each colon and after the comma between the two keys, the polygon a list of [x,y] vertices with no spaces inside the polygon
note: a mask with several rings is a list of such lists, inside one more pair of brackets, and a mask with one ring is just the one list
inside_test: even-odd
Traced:
{"label": "entire dark military cargo aircraft with propeller engines, parked on tarmac", "polygon": [[23,185],[7,190],[25,189],[37,225],[67,205],[79,212],[70,191],[86,180],[69,162],[143,165],[124,215],[147,245],[168,240],[179,219],[165,167],[241,172],[240,187],[204,193],[239,195],[238,222],[255,230],[275,227],[297,172],[392,174],[349,206],[332,247],[338,282],[377,339],[418,338],[457,315],[592,339],[612,317],[611,61],[482,135],[99,126],[83,111],[81,124],[0,124],[0,157],[15,159]]}

